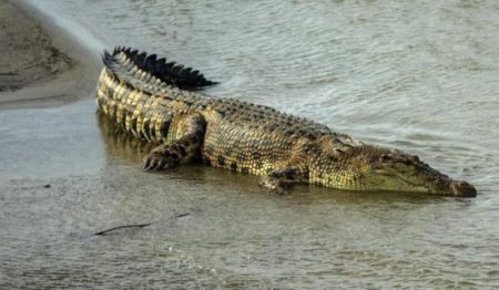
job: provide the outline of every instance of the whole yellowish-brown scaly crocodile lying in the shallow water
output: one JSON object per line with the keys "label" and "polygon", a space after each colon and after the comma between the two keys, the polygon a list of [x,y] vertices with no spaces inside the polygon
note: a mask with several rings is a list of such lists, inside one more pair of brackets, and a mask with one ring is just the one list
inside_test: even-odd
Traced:
{"label": "whole yellowish-brown scaly crocodile lying in the shallow water", "polygon": [[126,134],[155,144],[143,168],[203,163],[261,176],[285,191],[314,184],[356,191],[475,197],[477,190],[418,156],[354,141],[307,118],[203,93],[214,85],[197,70],[131,48],[104,50],[98,110]]}

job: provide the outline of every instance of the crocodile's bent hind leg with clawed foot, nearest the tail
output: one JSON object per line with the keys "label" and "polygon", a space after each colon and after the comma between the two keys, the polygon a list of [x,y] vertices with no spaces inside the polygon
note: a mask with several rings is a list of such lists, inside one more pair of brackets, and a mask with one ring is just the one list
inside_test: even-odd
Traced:
{"label": "crocodile's bent hind leg with clawed foot, nearest the tail", "polygon": [[193,160],[200,154],[205,127],[198,114],[183,117],[176,125],[176,139],[155,147],[144,157],[144,170],[163,170]]}

